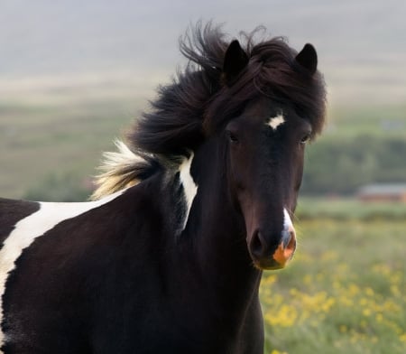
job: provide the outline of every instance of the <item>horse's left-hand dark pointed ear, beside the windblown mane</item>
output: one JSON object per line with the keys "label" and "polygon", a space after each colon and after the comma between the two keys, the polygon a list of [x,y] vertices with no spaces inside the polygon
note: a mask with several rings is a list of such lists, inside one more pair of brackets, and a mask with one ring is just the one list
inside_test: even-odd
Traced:
{"label": "horse's left-hand dark pointed ear, beside the windblown mane", "polygon": [[238,74],[244,70],[248,61],[248,56],[240,43],[237,40],[231,42],[226,50],[223,63],[223,79],[227,86],[231,85]]}

